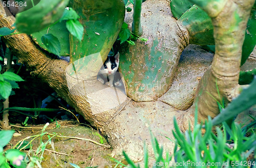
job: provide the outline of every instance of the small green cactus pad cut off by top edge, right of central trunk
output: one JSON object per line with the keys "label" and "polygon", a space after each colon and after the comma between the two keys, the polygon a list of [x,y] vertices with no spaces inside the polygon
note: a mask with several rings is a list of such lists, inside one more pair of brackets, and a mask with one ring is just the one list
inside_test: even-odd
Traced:
{"label": "small green cactus pad cut off by top edge, right of central trunk", "polygon": [[172,0],[170,1],[170,10],[172,11],[174,17],[178,20],[183,13],[185,13],[194,4],[190,3],[188,0]]}

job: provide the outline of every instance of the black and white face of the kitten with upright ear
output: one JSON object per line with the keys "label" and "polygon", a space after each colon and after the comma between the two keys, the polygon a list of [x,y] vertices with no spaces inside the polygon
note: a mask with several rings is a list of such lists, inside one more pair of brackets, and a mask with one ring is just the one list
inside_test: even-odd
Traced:
{"label": "black and white face of the kitten with upright ear", "polygon": [[115,56],[108,56],[103,64],[103,71],[105,74],[115,74],[119,65],[119,53]]}

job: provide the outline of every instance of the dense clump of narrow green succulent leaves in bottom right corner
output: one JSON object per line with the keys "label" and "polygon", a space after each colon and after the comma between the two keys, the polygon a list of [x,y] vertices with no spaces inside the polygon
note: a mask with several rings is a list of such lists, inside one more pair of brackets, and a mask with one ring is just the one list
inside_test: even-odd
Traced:
{"label": "dense clump of narrow green succulent leaves in bottom right corner", "polygon": [[[226,123],[223,125],[223,130],[216,127],[217,135],[215,135],[212,133],[211,119],[208,118],[208,122],[205,122],[204,135],[201,132],[202,125],[199,124],[194,127],[194,131],[189,129],[183,134],[175,119],[173,134],[177,140],[176,162],[186,163],[181,167],[233,167],[235,165],[243,167],[249,162],[255,164],[253,161],[247,162],[247,157],[255,150],[256,136],[245,137],[245,132],[236,123],[232,123],[231,129]],[[226,139],[227,133],[230,139]],[[228,145],[228,143],[231,144]]]}

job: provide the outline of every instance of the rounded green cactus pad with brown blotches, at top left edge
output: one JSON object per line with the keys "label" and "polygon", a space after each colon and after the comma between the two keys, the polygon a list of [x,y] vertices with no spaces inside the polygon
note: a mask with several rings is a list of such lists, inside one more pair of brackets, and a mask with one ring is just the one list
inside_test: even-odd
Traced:
{"label": "rounded green cactus pad with brown blotches, at top left edge", "polygon": [[19,32],[39,32],[61,18],[69,0],[41,0],[36,6],[16,15]]}

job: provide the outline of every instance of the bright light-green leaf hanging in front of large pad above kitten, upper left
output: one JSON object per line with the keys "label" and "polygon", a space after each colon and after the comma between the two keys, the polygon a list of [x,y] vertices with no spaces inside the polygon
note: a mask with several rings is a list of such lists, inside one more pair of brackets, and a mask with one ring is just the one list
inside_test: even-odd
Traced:
{"label": "bright light-green leaf hanging in front of large pad above kitten, upper left", "polygon": [[78,40],[82,40],[83,26],[78,20],[68,20],[67,29],[69,32],[75,36]]}

